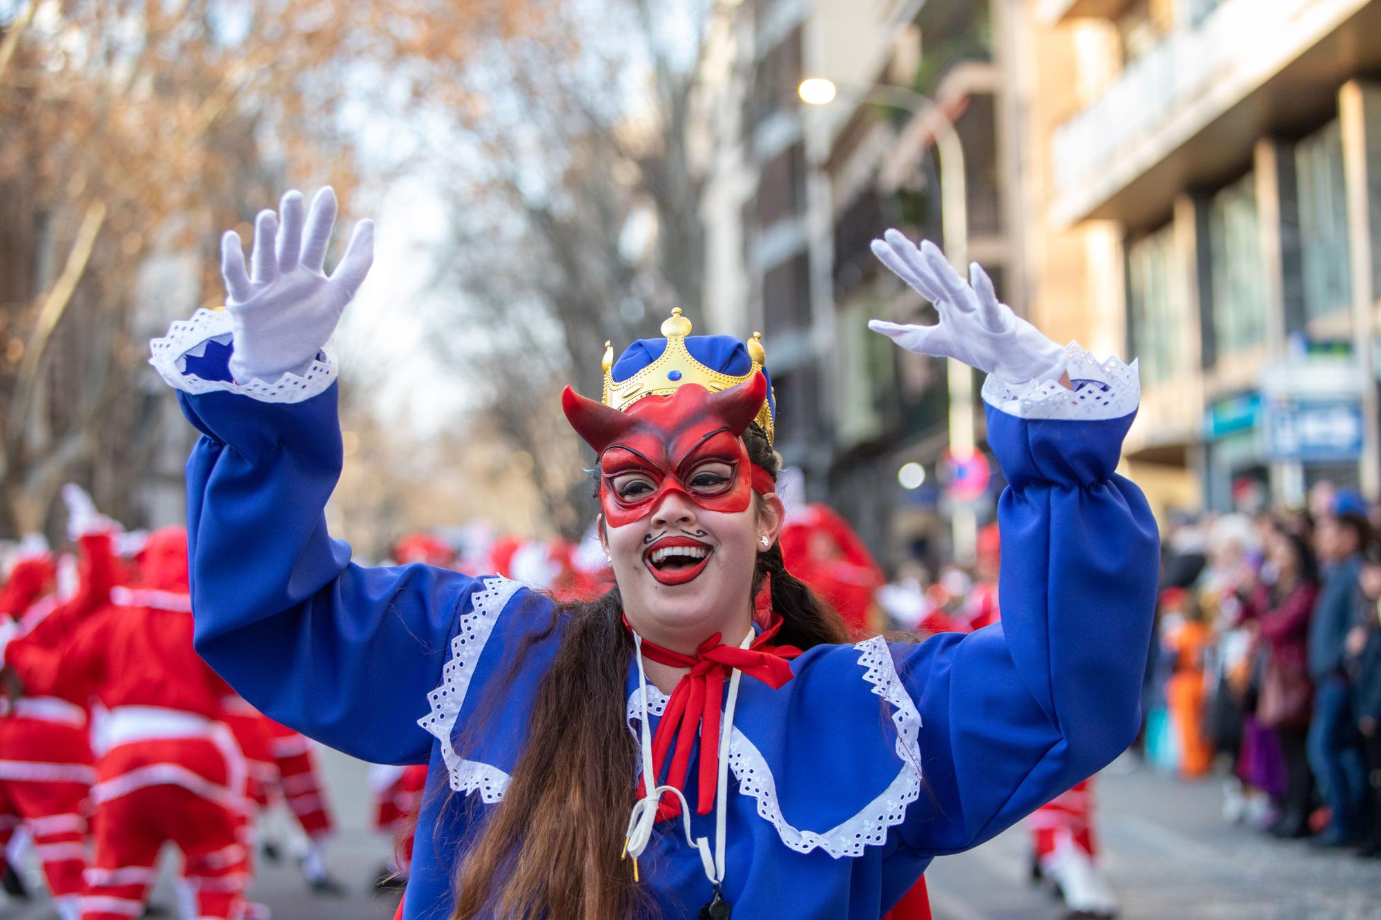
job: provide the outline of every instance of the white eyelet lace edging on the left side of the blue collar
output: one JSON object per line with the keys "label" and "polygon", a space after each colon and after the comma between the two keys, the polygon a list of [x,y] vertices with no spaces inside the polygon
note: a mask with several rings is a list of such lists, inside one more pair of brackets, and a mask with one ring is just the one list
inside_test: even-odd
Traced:
{"label": "white eyelet lace edging on the left side of the blue collar", "polygon": [[442,667],[441,684],[427,695],[431,714],[417,720],[423,729],[441,742],[450,787],[465,794],[479,790],[479,796],[489,804],[503,800],[508,789],[508,774],[492,764],[464,760],[452,745],[452,732],[456,729],[460,707],[465,705],[470,675],[475,673],[494,622],[521,587],[516,582],[499,576],[483,579],[483,587],[471,597],[471,612],[461,613],[460,626],[450,640],[450,660]]}

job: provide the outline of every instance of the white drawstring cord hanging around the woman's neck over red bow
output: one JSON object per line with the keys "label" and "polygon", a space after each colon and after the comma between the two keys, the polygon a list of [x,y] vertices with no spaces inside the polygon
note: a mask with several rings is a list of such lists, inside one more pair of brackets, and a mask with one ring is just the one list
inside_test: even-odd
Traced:
{"label": "white drawstring cord hanging around the woman's neck over red bow", "polygon": [[[754,635],[755,633],[750,629],[749,634],[739,644],[739,648],[749,648],[753,644]],[[648,673],[642,666],[642,637],[637,631],[632,631],[632,644],[634,652],[638,656],[638,695],[642,705],[642,722],[638,725],[638,736],[642,746],[642,785],[648,787],[648,792],[632,804],[632,812],[628,815],[624,855],[632,856],[632,877],[637,880],[638,856],[648,848],[648,841],[652,838],[652,827],[657,823],[657,805],[661,803],[661,796],[673,793],[681,800],[681,823],[685,830],[686,843],[700,854],[700,865],[704,869],[704,874],[715,891],[718,891],[724,884],[729,740],[733,738],[733,710],[739,702],[739,680],[743,677],[743,673],[735,667],[729,675],[729,693],[724,705],[724,721],[720,725],[720,782],[714,797],[714,855],[711,856],[710,841],[704,837],[690,836],[690,804],[686,801],[685,794],[675,786],[650,787],[650,783],[656,782],[657,776],[652,765],[652,731],[648,728]],[[702,756],[703,750],[702,739]]]}

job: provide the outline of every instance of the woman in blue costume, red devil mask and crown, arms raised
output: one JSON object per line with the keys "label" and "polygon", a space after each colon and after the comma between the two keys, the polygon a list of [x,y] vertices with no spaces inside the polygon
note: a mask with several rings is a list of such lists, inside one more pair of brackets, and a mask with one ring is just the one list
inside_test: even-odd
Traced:
{"label": "woman in blue costume, red devil mask and crown, arms raised", "polygon": [[[362,568],[326,530],[341,470],[327,340],[371,260],[336,200],[226,233],[225,311],[152,344],[203,434],[188,461],[197,649],[247,700],[376,763],[429,763],[402,914],[877,920],[938,855],[993,837],[1134,738],[1156,586],[1113,472],[1135,366],[1059,348],[929,243],[878,257],[940,316],[871,323],[989,373],[1003,623],[844,641],[782,568],[775,403],[757,337],[605,358],[563,408],[598,454],[617,587],[558,605],[494,576]],[[649,779],[650,778],[650,779]],[[449,786],[449,790],[443,786]]]}

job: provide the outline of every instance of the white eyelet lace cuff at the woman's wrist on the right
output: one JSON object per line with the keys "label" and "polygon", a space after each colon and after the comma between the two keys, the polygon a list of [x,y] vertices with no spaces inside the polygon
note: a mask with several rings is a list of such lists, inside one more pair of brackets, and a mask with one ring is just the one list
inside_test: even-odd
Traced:
{"label": "white eyelet lace cuff at the woman's wrist on the right", "polygon": [[1126,365],[1114,356],[1099,362],[1077,341],[1069,343],[1065,354],[1073,391],[1065,390],[1058,380],[1010,384],[989,374],[983,381],[983,402],[1018,419],[1091,421],[1121,419],[1137,409],[1141,402],[1137,361]]}

